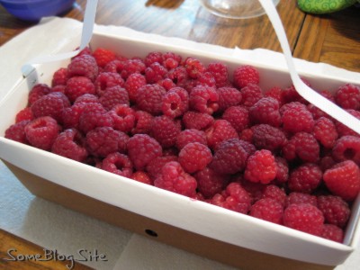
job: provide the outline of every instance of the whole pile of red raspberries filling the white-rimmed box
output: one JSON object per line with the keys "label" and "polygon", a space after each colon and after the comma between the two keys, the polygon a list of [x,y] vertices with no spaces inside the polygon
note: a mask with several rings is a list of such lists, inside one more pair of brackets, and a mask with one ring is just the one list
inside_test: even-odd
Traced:
{"label": "whole pile of red raspberries filling the white-rimmed box", "polygon": [[[359,134],[293,85],[259,82],[251,66],[229,74],[173,52],[86,48],[51,85],[33,86],[5,137],[342,242],[360,190]],[[320,94],[360,119],[358,86]]]}

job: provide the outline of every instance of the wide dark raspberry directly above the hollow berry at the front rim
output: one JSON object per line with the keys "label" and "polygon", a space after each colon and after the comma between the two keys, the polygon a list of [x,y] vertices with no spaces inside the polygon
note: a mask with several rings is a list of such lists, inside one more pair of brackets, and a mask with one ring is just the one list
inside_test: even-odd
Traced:
{"label": "wide dark raspberry directly above the hollow berry at the front rim", "polygon": [[107,157],[114,152],[125,153],[129,136],[110,127],[99,127],[87,132],[86,148],[95,157]]}

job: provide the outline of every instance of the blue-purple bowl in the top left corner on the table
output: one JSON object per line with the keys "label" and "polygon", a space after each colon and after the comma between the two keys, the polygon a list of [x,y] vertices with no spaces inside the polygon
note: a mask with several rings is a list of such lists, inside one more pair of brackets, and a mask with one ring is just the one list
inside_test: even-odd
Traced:
{"label": "blue-purple bowl in the top left corner on the table", "polygon": [[71,9],[74,2],[75,0],[0,0],[9,14],[31,22],[62,14]]}

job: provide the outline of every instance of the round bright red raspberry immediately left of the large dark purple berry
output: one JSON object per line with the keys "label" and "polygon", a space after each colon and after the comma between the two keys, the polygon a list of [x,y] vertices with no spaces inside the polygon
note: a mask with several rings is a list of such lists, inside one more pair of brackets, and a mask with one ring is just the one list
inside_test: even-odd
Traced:
{"label": "round bright red raspberry immediately left of the large dark purple berry", "polygon": [[186,173],[193,174],[208,166],[211,160],[211,150],[206,145],[191,142],[180,150],[178,161]]}

